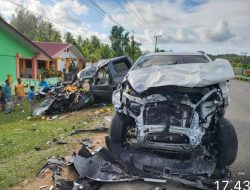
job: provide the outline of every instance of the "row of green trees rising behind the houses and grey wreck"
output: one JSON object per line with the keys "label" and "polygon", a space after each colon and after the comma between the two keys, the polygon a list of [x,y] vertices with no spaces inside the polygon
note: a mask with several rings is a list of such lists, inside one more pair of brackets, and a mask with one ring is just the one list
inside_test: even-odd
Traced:
{"label": "row of green trees rising behind the houses and grey wreck", "polygon": [[[17,9],[17,14],[12,15],[11,24],[30,40],[62,42],[62,35],[53,24],[25,9]],[[141,44],[134,41],[133,37],[130,40],[129,33],[123,27],[113,26],[109,38],[111,47],[102,43],[97,36],[84,39],[79,35],[75,38],[71,32],[66,32],[63,36],[64,42],[75,45],[90,62],[121,55],[128,55],[136,60],[141,56]]]}

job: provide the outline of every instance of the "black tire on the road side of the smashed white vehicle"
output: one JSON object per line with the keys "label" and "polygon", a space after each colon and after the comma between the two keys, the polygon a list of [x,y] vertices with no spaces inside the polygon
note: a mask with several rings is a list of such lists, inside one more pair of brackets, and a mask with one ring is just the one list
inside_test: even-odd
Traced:
{"label": "black tire on the road side of the smashed white vehicle", "polygon": [[221,118],[218,122],[218,156],[217,168],[230,166],[238,152],[238,138],[230,121]]}

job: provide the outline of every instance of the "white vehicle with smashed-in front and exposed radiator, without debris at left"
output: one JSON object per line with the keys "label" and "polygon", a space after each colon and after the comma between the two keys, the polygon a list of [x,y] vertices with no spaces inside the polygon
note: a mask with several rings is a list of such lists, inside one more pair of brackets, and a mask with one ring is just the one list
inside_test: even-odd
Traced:
{"label": "white vehicle with smashed-in front and exposed radiator, without debris at left", "polygon": [[123,147],[119,162],[129,166],[122,152],[137,150],[133,170],[195,183],[227,168],[238,149],[235,129],[224,117],[233,77],[227,60],[200,52],[140,57],[113,93],[109,139]]}

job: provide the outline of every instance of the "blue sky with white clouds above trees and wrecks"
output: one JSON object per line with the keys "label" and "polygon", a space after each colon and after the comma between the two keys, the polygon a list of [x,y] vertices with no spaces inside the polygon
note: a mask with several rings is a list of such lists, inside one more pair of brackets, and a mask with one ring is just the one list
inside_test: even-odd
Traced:
{"label": "blue sky with white clouds above trees and wrecks", "polygon": [[8,22],[17,8],[11,2],[48,18],[63,34],[96,35],[104,43],[119,24],[145,51],[154,51],[154,36],[161,36],[159,49],[250,54],[250,0],[0,0]]}

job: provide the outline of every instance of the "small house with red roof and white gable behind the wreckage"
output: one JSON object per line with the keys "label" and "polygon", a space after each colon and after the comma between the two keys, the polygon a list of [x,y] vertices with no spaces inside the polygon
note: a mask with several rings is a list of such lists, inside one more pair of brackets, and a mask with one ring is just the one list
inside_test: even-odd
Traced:
{"label": "small house with red roof and white gable behind the wreckage", "polygon": [[81,52],[71,43],[58,42],[33,42],[36,46],[53,58],[51,63],[38,64],[38,73],[42,70],[50,70],[67,74],[70,72],[70,65],[75,64],[81,70],[85,67],[85,58]]}

